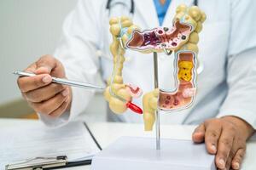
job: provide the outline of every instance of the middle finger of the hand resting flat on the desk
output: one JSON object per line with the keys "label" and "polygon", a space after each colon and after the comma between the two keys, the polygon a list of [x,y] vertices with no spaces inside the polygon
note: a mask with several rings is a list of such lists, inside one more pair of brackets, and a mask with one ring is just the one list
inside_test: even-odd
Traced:
{"label": "middle finger of the hand resting flat on the desk", "polygon": [[222,127],[222,133],[218,139],[218,151],[216,156],[216,165],[224,169],[234,140],[234,131],[230,127]]}

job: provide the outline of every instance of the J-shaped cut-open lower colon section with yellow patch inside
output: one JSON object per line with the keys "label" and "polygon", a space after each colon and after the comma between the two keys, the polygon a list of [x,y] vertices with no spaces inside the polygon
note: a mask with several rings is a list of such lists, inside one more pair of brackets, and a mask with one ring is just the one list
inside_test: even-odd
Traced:
{"label": "J-shaped cut-open lower colon section with yellow patch inside", "polygon": [[[175,79],[177,89],[172,92],[160,90],[160,110],[177,111],[192,104],[195,99],[196,59],[192,51],[176,54]],[[171,78],[171,77],[170,77]]]}

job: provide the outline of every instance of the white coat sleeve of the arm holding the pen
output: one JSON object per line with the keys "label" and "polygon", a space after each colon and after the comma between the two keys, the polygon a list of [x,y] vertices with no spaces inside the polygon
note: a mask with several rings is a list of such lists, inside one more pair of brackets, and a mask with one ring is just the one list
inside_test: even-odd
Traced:
{"label": "white coat sleeve of the arm holding the pen", "polygon": [[[54,56],[64,65],[66,76],[70,80],[96,83],[99,65],[96,49],[100,38],[97,14],[94,3],[80,0],[64,22],[61,42]],[[70,111],[57,118],[39,114],[46,125],[59,127],[67,124],[85,110],[94,94],[83,88],[72,88],[72,91]]]}

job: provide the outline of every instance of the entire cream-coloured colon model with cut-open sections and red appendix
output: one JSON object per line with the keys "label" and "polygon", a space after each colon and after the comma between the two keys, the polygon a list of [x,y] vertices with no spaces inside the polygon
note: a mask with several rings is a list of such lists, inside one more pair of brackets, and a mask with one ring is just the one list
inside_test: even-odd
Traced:
{"label": "entire cream-coloured colon model with cut-open sections and red appendix", "polygon": [[[198,33],[205,20],[206,14],[200,8],[183,4],[177,7],[171,28],[158,27],[141,31],[128,17],[112,18],[109,24],[113,36],[110,45],[113,73],[104,92],[109,108],[116,114],[124,113],[128,108],[143,114],[144,128],[150,131],[154,125],[156,110],[178,111],[192,105],[196,94]],[[172,91],[155,88],[144,94],[143,110],[133,104],[132,99],[139,98],[143,90],[131,83],[124,83],[122,69],[126,49],[144,54],[174,52],[176,88]]]}

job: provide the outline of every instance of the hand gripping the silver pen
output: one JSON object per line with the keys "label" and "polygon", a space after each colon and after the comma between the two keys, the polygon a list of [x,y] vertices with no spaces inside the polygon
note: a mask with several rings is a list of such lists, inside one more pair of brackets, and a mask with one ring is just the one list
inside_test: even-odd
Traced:
{"label": "hand gripping the silver pen", "polygon": [[61,116],[69,110],[72,90],[65,85],[51,83],[52,77],[65,78],[61,62],[50,55],[44,55],[26,68],[37,76],[18,78],[18,86],[24,99],[34,111],[50,117]]}

